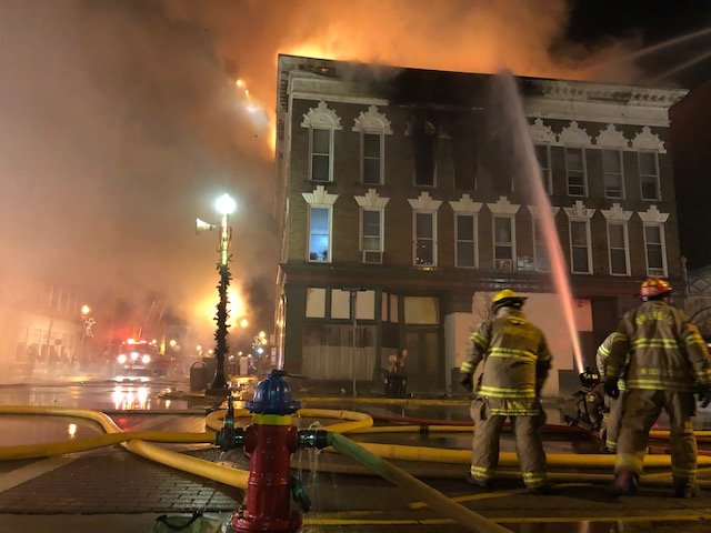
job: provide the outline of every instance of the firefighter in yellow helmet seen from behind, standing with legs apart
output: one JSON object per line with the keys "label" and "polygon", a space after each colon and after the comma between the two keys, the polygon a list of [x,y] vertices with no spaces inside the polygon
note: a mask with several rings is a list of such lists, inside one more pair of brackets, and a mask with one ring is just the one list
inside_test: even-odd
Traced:
{"label": "firefighter in yellow helmet seen from behind, standing with legs apart", "polygon": [[[545,494],[550,484],[539,433],[545,415],[539,398],[551,354],[543,332],[521,312],[524,301],[510,289],[498,292],[491,305],[494,318],[470,336],[469,353],[461,366],[462,385],[474,392],[473,453],[467,481],[480,487],[491,485],[499,462],[499,438],[510,418],[523,482],[530,492]],[[474,385],[479,363],[483,368]]]}

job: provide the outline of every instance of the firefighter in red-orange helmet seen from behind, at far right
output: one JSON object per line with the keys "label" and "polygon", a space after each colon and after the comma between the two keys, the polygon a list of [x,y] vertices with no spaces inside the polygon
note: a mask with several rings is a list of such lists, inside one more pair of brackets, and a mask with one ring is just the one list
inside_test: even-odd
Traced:
{"label": "firefighter in red-orange helmet seen from behind, at far right", "polygon": [[[669,414],[673,494],[695,495],[697,441],[691,418],[694,392],[711,402],[711,359],[695,325],[671,305],[671,285],[661,278],[642,282],[643,303],[624,314],[605,365],[605,392],[619,396],[625,373],[622,428],[614,464],[614,495],[637,492],[649,430],[664,409]],[[627,359],[629,358],[629,363]]]}

